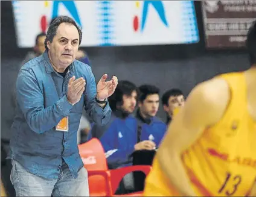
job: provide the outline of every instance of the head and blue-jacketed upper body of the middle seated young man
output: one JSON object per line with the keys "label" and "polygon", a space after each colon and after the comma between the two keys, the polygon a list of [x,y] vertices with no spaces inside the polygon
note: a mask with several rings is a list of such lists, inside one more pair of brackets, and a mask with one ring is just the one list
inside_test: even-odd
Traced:
{"label": "head and blue-jacketed upper body of the middle seated young man", "polygon": [[138,142],[151,140],[158,146],[166,131],[166,124],[156,117],[159,109],[159,88],[143,85],[139,87],[139,92],[139,108],[136,113]]}

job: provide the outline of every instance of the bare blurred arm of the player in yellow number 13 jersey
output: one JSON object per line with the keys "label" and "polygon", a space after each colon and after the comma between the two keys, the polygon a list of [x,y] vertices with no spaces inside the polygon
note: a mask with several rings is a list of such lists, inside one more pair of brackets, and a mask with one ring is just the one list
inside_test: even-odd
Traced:
{"label": "bare blurred arm of the player in yellow number 13 jersey", "polygon": [[173,118],[157,154],[159,165],[182,196],[197,196],[182,164],[182,152],[192,145],[206,127],[216,124],[229,101],[224,80],[210,80],[196,86],[185,106]]}

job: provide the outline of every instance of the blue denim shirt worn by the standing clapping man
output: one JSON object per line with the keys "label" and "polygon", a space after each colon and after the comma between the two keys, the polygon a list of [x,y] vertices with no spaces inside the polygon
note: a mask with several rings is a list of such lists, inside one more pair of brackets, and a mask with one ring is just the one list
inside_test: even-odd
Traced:
{"label": "blue denim shirt worn by the standing clapping man", "polygon": [[[62,160],[74,178],[83,167],[77,146],[83,107],[97,124],[107,124],[111,116],[108,103],[103,109],[95,101],[96,83],[91,67],[74,60],[68,68],[63,78],[51,66],[45,51],[21,67],[16,82],[17,107],[8,158],[44,178],[58,178]],[[66,97],[73,75],[86,80],[85,92],[74,106]],[[68,132],[56,131],[63,117],[68,117]]]}

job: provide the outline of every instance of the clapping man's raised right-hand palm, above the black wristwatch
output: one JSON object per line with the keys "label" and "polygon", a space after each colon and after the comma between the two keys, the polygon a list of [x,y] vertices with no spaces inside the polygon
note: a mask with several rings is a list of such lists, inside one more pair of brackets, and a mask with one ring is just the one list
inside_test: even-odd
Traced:
{"label": "clapping man's raised right-hand palm, above the black wristwatch", "polygon": [[106,81],[106,79],[107,74],[104,74],[97,84],[97,99],[100,101],[104,101],[105,98],[111,96],[118,84],[118,79],[115,76],[110,81]]}

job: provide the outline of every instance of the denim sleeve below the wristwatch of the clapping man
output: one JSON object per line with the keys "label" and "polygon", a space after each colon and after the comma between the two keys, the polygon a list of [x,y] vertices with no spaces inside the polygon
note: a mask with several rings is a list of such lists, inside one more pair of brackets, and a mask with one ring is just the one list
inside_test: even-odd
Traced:
{"label": "denim sleeve below the wristwatch of the clapping man", "polygon": [[110,120],[111,108],[109,102],[107,102],[104,108],[101,108],[95,100],[97,93],[96,82],[91,67],[89,68],[89,77],[86,79],[86,91],[85,91],[85,110],[91,119],[98,125],[106,125]]}

